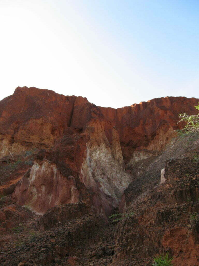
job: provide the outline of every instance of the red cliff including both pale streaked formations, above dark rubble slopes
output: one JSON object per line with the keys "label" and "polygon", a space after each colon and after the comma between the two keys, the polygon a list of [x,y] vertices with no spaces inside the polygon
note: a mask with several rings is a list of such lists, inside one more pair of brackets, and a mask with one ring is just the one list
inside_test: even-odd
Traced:
{"label": "red cliff including both pale streaked formations, above dark rubble slopes", "polygon": [[82,202],[109,215],[131,182],[125,164],[161,150],[177,129],[178,114],[196,114],[198,101],[166,97],[113,109],[51,90],[16,88],[0,101],[0,157],[43,151],[13,198],[38,213]]}

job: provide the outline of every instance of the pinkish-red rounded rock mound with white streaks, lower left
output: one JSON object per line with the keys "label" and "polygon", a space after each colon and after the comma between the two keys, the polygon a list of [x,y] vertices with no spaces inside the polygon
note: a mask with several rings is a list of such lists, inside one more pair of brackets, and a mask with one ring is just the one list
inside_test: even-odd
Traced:
{"label": "pinkish-red rounded rock mound with white streaks, lower left", "polygon": [[49,208],[79,202],[80,194],[73,176],[64,177],[55,164],[48,160],[35,161],[16,186],[13,199],[38,213]]}

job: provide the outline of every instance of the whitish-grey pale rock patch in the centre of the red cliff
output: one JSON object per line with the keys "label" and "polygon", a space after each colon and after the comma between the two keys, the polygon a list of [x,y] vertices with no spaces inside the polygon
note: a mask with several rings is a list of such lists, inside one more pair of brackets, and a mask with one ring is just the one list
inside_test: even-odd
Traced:
{"label": "whitish-grey pale rock patch in the centre of the red cliff", "polygon": [[87,144],[87,156],[81,173],[81,181],[86,187],[98,185],[103,193],[115,198],[117,202],[131,182],[130,176],[123,170],[123,165],[114,159],[111,149],[104,143],[94,147]]}

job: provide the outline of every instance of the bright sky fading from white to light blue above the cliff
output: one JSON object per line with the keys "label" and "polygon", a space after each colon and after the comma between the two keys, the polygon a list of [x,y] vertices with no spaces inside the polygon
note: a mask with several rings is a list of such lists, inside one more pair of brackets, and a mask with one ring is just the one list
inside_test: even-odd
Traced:
{"label": "bright sky fading from white to light blue above the cliff", "polygon": [[0,0],[0,100],[18,86],[123,107],[199,98],[198,0]]}

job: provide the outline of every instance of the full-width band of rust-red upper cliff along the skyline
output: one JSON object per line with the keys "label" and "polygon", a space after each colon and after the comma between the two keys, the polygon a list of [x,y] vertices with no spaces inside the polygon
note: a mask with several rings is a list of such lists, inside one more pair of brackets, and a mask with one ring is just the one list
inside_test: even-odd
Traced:
{"label": "full-width band of rust-red upper cliff along the skyline", "polygon": [[196,114],[198,101],[166,97],[113,109],[97,107],[83,97],[18,87],[0,101],[0,142],[5,145],[0,145],[1,157],[9,153],[7,149],[19,152],[52,147],[63,135],[85,131],[94,119],[92,127],[100,121],[110,144],[115,138],[113,128],[117,129],[123,158],[128,162],[136,148],[162,149],[177,129],[178,114]]}

